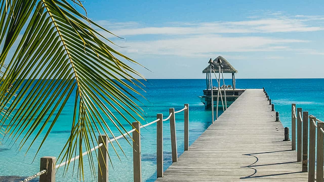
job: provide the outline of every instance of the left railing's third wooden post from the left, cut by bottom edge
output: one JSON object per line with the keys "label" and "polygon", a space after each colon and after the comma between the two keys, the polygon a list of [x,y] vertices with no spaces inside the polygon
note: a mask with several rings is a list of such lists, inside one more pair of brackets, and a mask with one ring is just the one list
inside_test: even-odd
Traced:
{"label": "left railing's third wooden post from the left, cut by bottom edge", "polygon": [[133,176],[134,182],[142,182],[142,160],[141,160],[141,132],[140,123],[133,122]]}

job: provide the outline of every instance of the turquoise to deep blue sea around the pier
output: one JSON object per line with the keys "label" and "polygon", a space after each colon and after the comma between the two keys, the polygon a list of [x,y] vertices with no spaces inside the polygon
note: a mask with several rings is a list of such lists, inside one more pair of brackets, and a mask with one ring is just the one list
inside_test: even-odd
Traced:
{"label": "turquoise to deep blue sea around the pier", "polygon": [[[231,85],[231,80],[225,81],[226,85]],[[163,113],[164,118],[168,116],[168,109],[183,108],[183,104],[189,104],[189,135],[190,144],[194,142],[208,126],[211,124],[211,111],[205,110],[198,96],[203,94],[206,87],[205,79],[151,79],[145,82],[147,88],[142,99],[143,109],[147,113],[145,121],[150,122],[156,119],[157,113]],[[275,110],[279,111],[280,119],[284,127],[291,128],[291,104],[296,103],[297,108],[301,107],[309,114],[318,119],[324,119],[324,79],[237,79],[237,88],[262,88],[264,87],[275,104]],[[71,120],[73,114],[74,98],[66,104],[59,120],[55,124],[49,138],[41,148],[36,160],[32,163],[35,152],[41,140],[37,140],[25,155],[27,145],[20,151],[15,146],[4,141],[0,144],[0,176],[29,176],[39,171],[39,159],[42,156],[58,156],[70,134]],[[219,112],[219,115],[222,111]],[[148,126],[141,130],[142,134],[142,173],[143,181],[154,181],[156,179],[156,125]],[[131,127],[125,122],[125,127]],[[164,137],[164,169],[171,165],[171,143],[169,124],[163,125]],[[118,131],[114,131],[119,135]],[[183,152],[183,113],[176,115],[176,132],[178,155]],[[126,156],[118,150],[120,160],[110,147],[110,156],[113,166],[109,166],[109,180],[114,182],[133,181],[133,153],[132,147],[124,140],[119,140]],[[86,157],[87,158],[87,157]],[[89,170],[88,162],[85,162],[85,181],[97,181]],[[96,162],[96,159],[94,159]],[[76,172],[72,175],[72,168],[63,176],[63,167],[57,171],[57,182],[79,181]],[[9,177],[10,176],[10,177]],[[4,179],[4,177],[0,177]]]}

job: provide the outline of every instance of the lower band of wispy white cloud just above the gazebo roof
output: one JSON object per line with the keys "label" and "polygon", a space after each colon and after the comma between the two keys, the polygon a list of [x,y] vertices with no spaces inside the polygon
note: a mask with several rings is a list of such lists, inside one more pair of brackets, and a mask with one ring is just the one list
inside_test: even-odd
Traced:
{"label": "lower band of wispy white cloud just above the gazebo roof", "polygon": [[220,35],[195,35],[186,38],[128,42],[132,46],[123,51],[138,54],[202,56],[217,52],[278,51],[288,48],[282,44],[307,42],[295,39],[267,37],[224,37]]}

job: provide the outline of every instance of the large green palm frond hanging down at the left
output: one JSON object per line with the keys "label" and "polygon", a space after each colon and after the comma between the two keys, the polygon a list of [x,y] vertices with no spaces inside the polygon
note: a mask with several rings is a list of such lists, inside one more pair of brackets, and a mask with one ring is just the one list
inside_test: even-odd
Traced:
{"label": "large green palm frond hanging down at the left", "polygon": [[[114,137],[109,122],[126,132],[114,113],[130,125],[143,119],[135,97],[141,94],[133,88],[143,86],[136,79],[143,76],[129,66],[138,63],[111,47],[101,32],[112,33],[87,18],[81,1],[3,0],[0,11],[0,128],[19,149],[29,150],[43,132],[38,153],[71,97],[71,133],[61,160],[97,145],[98,133]],[[82,157],[78,169],[83,174]]]}

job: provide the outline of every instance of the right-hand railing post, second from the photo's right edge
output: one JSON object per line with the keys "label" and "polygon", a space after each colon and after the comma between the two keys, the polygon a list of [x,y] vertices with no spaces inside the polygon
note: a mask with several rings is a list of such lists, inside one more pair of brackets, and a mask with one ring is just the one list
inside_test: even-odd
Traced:
{"label": "right-hand railing post, second from the photo's right edge", "polygon": [[315,117],[309,117],[309,166],[308,166],[308,182],[314,182],[315,180],[315,136],[316,127],[313,124]]}

